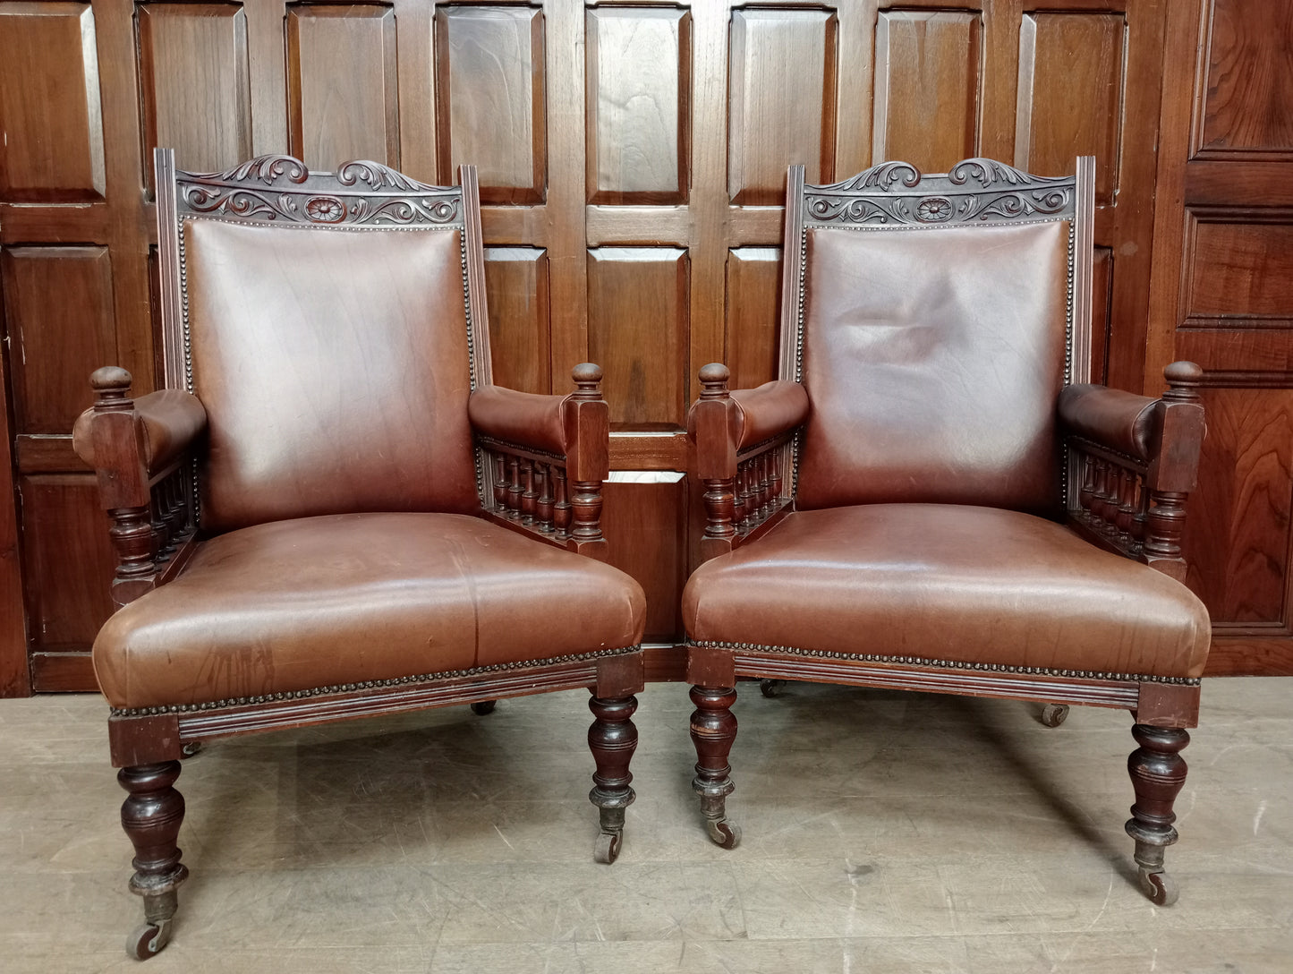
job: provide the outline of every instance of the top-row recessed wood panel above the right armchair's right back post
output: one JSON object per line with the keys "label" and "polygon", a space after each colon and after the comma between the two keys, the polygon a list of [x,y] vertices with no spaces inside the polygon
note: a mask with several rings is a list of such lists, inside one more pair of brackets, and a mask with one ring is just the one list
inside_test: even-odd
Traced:
{"label": "top-row recessed wood panel above the right armchair's right back post", "polygon": [[1067,176],[1095,157],[1095,199],[1112,203],[1122,131],[1124,38],[1117,13],[1032,13],[1019,30],[1015,164]]}

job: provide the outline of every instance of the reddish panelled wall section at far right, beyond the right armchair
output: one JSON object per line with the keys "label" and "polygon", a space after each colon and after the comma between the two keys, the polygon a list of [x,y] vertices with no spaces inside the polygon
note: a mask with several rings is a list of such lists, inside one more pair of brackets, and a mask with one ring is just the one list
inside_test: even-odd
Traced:
{"label": "reddish panelled wall section at far right, beyond the right armchair", "polygon": [[1214,673],[1293,674],[1293,4],[1174,3],[1149,366],[1204,373],[1188,582]]}

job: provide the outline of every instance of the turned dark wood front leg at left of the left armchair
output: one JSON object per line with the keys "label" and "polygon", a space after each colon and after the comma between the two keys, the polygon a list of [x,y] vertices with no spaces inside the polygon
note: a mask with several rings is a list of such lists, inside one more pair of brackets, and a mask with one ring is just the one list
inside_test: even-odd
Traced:
{"label": "turned dark wood front leg at left of the left armchair", "polygon": [[144,898],[144,926],[129,935],[125,951],[141,961],[160,952],[171,939],[176,890],[189,878],[176,845],[184,821],[184,795],[172,788],[177,777],[178,761],[124,767],[116,775],[129,792],[122,803],[122,828],[134,846],[131,893]]}

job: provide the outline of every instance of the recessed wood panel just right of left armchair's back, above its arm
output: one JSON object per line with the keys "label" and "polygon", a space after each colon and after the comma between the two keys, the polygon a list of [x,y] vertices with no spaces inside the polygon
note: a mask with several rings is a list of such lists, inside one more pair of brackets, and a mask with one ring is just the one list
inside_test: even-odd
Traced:
{"label": "recessed wood panel just right of left armchair's back, above its arm", "polygon": [[521,392],[551,392],[547,252],[486,247],[485,291],[494,383]]}

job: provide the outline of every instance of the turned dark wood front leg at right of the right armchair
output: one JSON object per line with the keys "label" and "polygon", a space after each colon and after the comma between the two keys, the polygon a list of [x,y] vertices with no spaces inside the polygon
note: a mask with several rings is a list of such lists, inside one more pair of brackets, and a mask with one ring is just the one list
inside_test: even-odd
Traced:
{"label": "turned dark wood front leg at right of the right armchair", "polygon": [[1140,746],[1127,758],[1135,805],[1126,830],[1135,839],[1142,891],[1157,905],[1170,907],[1178,891],[1175,881],[1162,869],[1162,858],[1177,841],[1171,805],[1186,784],[1187,767],[1181,750],[1190,744],[1190,735],[1174,727],[1135,724],[1131,736]]}

